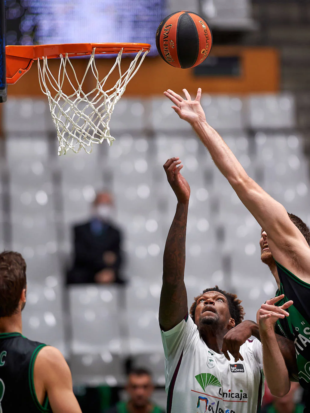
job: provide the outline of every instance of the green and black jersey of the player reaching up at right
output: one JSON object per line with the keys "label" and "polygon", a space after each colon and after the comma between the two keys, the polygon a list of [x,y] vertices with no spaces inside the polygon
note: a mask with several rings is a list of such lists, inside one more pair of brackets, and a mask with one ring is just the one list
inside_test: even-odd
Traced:
{"label": "green and black jersey of the player reaching up at right", "polygon": [[284,294],[284,299],[276,305],[293,300],[286,311],[289,317],[280,318],[275,327],[278,334],[295,343],[298,377],[300,385],[310,390],[310,284],[296,277],[276,261],[280,289],[276,296]]}

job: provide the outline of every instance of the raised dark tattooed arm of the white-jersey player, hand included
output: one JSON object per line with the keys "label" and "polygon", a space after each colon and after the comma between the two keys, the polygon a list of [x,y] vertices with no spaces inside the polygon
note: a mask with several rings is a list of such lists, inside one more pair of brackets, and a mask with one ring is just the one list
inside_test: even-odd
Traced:
{"label": "raised dark tattooed arm of the white-jersey player, hand included", "polygon": [[179,324],[186,317],[188,311],[184,268],[186,222],[191,190],[186,179],[180,173],[182,167],[178,157],[168,159],[164,165],[168,182],[178,199],[164,252],[159,306],[159,323],[164,331],[171,330]]}

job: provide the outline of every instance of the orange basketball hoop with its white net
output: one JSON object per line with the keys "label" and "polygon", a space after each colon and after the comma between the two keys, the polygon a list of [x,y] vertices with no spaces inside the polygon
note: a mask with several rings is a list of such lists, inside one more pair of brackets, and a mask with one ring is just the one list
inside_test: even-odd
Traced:
{"label": "orange basketball hoop with its white net", "polygon": [[[115,140],[110,135],[109,128],[114,106],[149,51],[150,45],[144,43],[6,46],[7,83],[16,83],[31,68],[33,61],[37,60],[40,87],[48,97],[50,112],[57,130],[58,154],[65,154],[69,149],[77,153],[81,148],[90,153],[93,144],[102,143],[106,139],[111,145]],[[134,53],[135,56],[129,68],[122,73],[121,60],[124,53]],[[95,55],[103,54],[117,54],[117,57],[109,73],[100,78]],[[79,82],[70,57],[87,55],[90,58],[85,74]],[[60,58],[57,75],[52,74],[48,67],[48,59],[55,58]],[[119,72],[119,79],[112,88],[104,90],[105,83],[114,69]],[[95,88],[86,93],[82,88],[88,73],[92,73],[95,78]],[[71,94],[67,95],[62,90],[64,82],[69,82],[72,87]]]}

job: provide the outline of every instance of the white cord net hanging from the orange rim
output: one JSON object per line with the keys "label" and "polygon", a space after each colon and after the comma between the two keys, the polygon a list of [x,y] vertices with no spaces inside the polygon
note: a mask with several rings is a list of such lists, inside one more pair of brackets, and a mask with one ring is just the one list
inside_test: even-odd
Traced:
{"label": "white cord net hanging from the orange rim", "polygon": [[[122,74],[122,52],[123,49],[118,53],[110,72],[100,80],[95,64],[94,48],[81,82],[78,81],[72,62],[67,54],[65,57],[60,55],[60,68],[57,78],[52,75],[48,67],[48,58],[43,57],[41,59],[43,61],[42,67],[40,59],[38,59],[40,86],[42,92],[48,97],[50,112],[57,129],[59,155],[65,154],[68,149],[77,153],[81,148],[90,153],[94,143],[102,143],[106,139],[108,144],[111,145],[113,140],[115,140],[110,135],[109,128],[114,106],[124,93],[127,83],[134,77],[145,56],[148,54],[148,51],[143,52],[140,50],[130,63],[129,68]],[[116,67],[119,70],[119,80],[111,89],[105,91],[104,85],[107,78]],[[70,80],[67,69],[73,72],[74,79]],[[95,77],[96,86],[90,92],[84,93],[82,90],[83,82],[90,70]],[[62,91],[62,86],[67,81],[69,81],[74,90],[71,95],[66,95]],[[54,91],[56,92],[55,95]]]}

